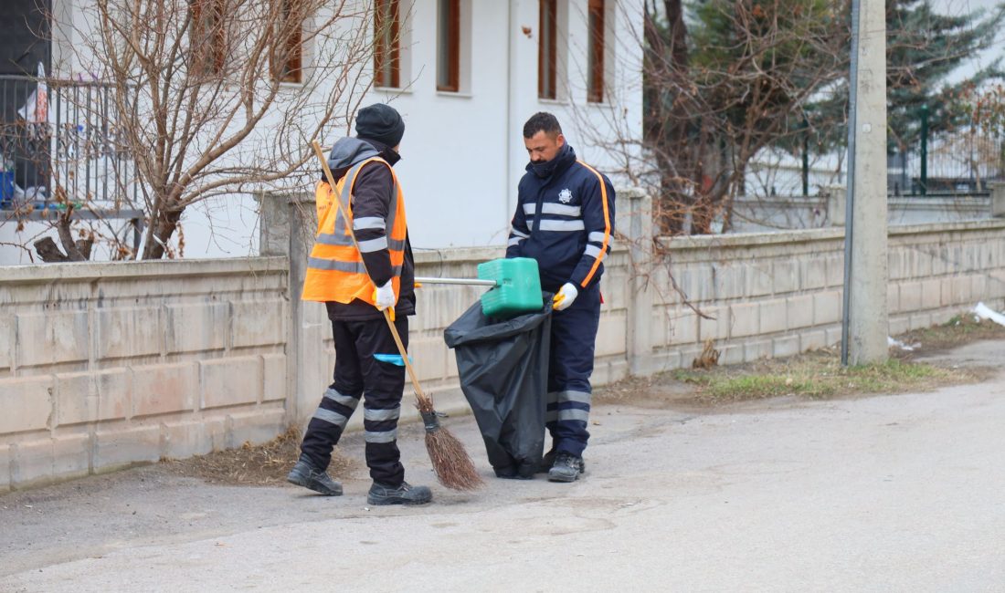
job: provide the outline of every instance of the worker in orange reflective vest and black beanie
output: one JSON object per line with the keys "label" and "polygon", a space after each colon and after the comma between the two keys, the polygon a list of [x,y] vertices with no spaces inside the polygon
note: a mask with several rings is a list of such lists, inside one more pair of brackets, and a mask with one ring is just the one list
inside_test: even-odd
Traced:
{"label": "worker in orange reflective vest and black beanie", "polygon": [[[323,495],[342,494],[342,485],[327,469],[332,450],[363,398],[366,459],[373,479],[370,505],[432,500],[428,488],[405,482],[397,443],[405,367],[382,313],[394,311],[395,327],[407,347],[408,316],[415,314],[415,264],[404,196],[392,169],[401,159],[404,132],[398,111],[377,103],[357,113],[357,137],[335,142],[328,165],[336,187],[323,176],[315,192],[318,234],[301,295],[328,307],[335,334],[335,380],[308,424],[300,458],[286,480]],[[342,202],[349,220],[335,200]]]}

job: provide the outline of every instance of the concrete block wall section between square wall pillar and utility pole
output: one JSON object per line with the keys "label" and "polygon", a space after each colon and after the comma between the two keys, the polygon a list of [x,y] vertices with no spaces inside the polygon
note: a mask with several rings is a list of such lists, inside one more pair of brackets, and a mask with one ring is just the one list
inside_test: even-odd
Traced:
{"label": "concrete block wall section between square wall pillar and utility pole", "polygon": [[[840,335],[840,231],[663,240],[654,281],[654,369],[690,366],[713,340],[720,363],[789,356]],[[673,276],[677,288],[670,282]],[[835,333],[836,331],[836,333]]]}

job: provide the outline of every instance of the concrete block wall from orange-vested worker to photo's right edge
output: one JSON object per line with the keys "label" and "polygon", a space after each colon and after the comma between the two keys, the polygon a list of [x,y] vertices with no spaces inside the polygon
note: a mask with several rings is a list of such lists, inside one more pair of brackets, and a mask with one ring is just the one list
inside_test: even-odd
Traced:
{"label": "concrete block wall from orange-vested worker to photo's right edge", "polygon": [[[627,219],[644,203],[623,206]],[[619,219],[619,228],[627,230],[625,223]],[[658,255],[640,257],[636,248],[647,242],[619,237],[607,260],[595,384],[688,367],[710,338],[723,364],[840,342],[842,229],[674,238],[659,241]],[[417,275],[473,278],[478,263],[500,255],[491,249],[420,253]],[[1005,222],[890,227],[888,269],[890,335],[946,322],[979,300],[1005,309]],[[642,288],[636,289],[639,278]],[[482,290],[419,291],[410,350],[437,407],[466,407],[442,333]],[[326,348],[334,362],[330,337]],[[648,360],[635,364],[638,357]]]}

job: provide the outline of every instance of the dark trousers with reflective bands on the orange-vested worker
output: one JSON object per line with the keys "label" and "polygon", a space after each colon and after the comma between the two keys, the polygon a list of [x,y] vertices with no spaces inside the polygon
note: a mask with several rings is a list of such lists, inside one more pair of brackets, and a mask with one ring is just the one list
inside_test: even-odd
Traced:
{"label": "dark trousers with reflective bands on the orange-vested worker", "polygon": [[[408,317],[399,317],[394,325],[407,348]],[[363,428],[370,477],[381,484],[399,486],[405,479],[398,451],[398,417],[405,388],[405,367],[393,360],[397,358],[400,362],[391,330],[384,319],[333,321],[332,330],[335,334],[335,382],[325,391],[311,418],[300,451],[317,467],[328,468],[332,450],[339,442],[360,397],[365,396]]]}

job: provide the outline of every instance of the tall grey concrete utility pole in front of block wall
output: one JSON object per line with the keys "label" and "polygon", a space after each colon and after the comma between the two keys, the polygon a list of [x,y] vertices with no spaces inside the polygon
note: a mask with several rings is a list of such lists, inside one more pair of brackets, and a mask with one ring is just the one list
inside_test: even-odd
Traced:
{"label": "tall grey concrete utility pole in front of block wall", "polygon": [[886,311],[886,25],[883,0],[852,0],[841,363],[882,362]]}

